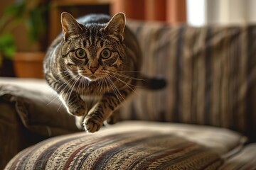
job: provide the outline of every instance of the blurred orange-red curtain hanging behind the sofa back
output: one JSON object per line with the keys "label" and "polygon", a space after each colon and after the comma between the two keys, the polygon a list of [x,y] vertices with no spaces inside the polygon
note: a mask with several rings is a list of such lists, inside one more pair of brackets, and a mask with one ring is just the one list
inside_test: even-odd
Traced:
{"label": "blurred orange-red curtain hanging behind the sofa back", "polygon": [[185,23],[186,0],[112,0],[110,12],[124,12],[132,19]]}

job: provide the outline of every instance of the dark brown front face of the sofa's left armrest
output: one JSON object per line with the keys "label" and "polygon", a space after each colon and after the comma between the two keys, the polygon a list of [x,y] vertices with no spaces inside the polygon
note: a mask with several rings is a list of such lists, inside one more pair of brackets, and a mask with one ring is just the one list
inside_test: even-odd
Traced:
{"label": "dark brown front face of the sofa's left armrest", "polygon": [[7,162],[22,149],[47,137],[25,128],[11,103],[1,101],[0,109],[0,169],[4,169]]}

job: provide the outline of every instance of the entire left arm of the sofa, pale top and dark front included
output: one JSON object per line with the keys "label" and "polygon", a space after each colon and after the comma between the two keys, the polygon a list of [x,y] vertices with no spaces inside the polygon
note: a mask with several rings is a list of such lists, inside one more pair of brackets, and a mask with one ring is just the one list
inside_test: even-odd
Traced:
{"label": "entire left arm of the sofa, pale top and dark front included", "polygon": [[0,79],[0,169],[22,149],[48,137],[78,132],[46,81]]}

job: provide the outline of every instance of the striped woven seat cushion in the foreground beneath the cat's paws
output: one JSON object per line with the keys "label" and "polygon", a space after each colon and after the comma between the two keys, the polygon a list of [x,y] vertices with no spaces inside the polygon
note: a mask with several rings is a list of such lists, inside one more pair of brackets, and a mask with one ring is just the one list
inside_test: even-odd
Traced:
{"label": "striped woven seat cushion in the foreground beneath the cat's paws", "polygon": [[52,137],[24,149],[6,169],[216,169],[244,140],[221,128],[127,121]]}

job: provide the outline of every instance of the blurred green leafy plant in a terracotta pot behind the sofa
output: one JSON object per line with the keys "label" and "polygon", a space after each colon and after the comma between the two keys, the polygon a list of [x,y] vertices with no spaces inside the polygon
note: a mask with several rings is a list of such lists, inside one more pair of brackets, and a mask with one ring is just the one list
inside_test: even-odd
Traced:
{"label": "blurred green leafy plant in a terracotta pot behind the sofa", "polygon": [[[42,62],[44,52],[42,51],[46,50],[47,46],[47,17],[44,15],[46,11],[48,11],[48,6],[42,4],[42,1],[39,0],[16,1],[5,8],[4,15],[0,18],[1,76],[12,76],[6,73],[15,72],[16,77],[43,77]],[[22,27],[26,29],[28,43],[31,46],[36,43],[39,44],[34,50],[31,50],[31,47],[17,49],[17,43],[23,43],[23,38],[21,38],[21,42],[16,42],[16,35],[13,32],[15,29]],[[13,63],[14,69],[10,65],[7,66],[6,62]]]}

